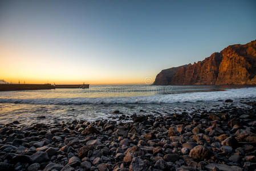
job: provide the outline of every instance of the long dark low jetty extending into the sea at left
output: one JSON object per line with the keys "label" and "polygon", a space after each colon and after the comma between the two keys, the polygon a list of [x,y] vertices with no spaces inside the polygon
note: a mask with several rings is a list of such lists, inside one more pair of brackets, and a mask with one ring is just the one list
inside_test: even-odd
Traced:
{"label": "long dark low jetty extending into the sea at left", "polygon": [[55,88],[89,88],[90,84],[0,84],[0,91],[20,91]]}

